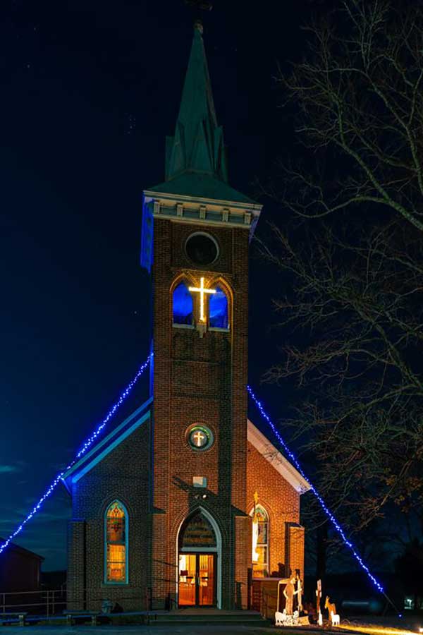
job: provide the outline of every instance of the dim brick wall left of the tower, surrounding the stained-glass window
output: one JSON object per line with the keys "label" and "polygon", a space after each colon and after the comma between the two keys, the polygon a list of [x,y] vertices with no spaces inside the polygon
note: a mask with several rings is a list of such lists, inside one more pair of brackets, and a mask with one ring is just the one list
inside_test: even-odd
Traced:
{"label": "dim brick wall left of the tower, surrounding the stained-glass window", "polygon": [[[149,547],[149,422],[145,421],[73,485],[68,530],[68,593],[72,607],[98,609],[104,599],[144,610]],[[120,500],[128,510],[128,585],[104,583],[104,514]],[[81,519],[81,520],[80,520]],[[85,566],[84,566],[85,561]]]}

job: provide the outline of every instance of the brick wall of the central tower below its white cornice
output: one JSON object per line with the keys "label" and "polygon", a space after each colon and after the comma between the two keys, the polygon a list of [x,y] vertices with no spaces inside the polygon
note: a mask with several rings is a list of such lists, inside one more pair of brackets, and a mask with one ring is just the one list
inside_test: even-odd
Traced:
{"label": "brick wall of the central tower below its white cornice", "polygon": [[[235,298],[228,332],[172,327],[171,287],[178,276],[199,282],[185,256],[194,231],[207,231],[220,256],[201,275],[222,278]],[[247,446],[248,232],[154,219],[154,523],[152,587],[157,605],[176,598],[177,536],[197,507],[193,476],[207,478],[201,505],[216,520],[222,544],[222,607],[247,605],[245,549]],[[214,445],[195,452],[187,428],[211,428]],[[248,521],[248,520],[247,520]]]}

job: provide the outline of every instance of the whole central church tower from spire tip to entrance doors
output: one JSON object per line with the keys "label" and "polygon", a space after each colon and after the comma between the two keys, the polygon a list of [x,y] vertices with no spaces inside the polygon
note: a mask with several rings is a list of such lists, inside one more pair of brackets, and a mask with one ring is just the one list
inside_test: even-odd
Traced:
{"label": "whole central church tower from spire tip to entrance doors", "polygon": [[144,193],[154,411],[149,585],[155,606],[246,607],[248,247],[261,205],[228,184],[202,25],[166,181]]}

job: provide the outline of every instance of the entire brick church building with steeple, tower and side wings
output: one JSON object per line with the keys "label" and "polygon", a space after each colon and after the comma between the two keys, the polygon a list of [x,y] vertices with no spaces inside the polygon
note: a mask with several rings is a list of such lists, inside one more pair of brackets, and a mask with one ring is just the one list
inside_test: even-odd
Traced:
{"label": "entire brick church building with steeple, tower and side wings", "polygon": [[[166,181],[144,193],[152,387],[66,473],[68,600],[247,608],[304,569],[298,471],[247,419],[248,249],[261,206],[228,185],[195,27]],[[153,257],[154,255],[154,257]]]}

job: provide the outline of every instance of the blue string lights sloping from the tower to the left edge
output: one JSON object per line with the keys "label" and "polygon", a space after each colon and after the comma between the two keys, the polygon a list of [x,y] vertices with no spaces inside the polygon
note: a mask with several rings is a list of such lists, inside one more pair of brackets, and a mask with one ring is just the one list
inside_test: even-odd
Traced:
{"label": "blue string lights sloping from the tower to the left edge", "polygon": [[152,356],[153,356],[153,353],[150,353],[150,355],[147,357],[147,360],[137,370],[135,377],[133,377],[133,380],[125,388],[125,390],[119,397],[118,401],[116,401],[116,404],[114,404],[114,406],[111,407],[106,417],[103,419],[102,423],[99,424],[97,429],[94,430],[94,433],[92,433],[92,435],[82,444],[82,447],[79,450],[78,454],[76,454],[75,459],[73,459],[73,461],[71,461],[71,463],[56,476],[54,481],[49,486],[48,490],[44,492],[42,497],[39,499],[39,501],[37,502],[35,507],[32,509],[32,511],[27,515],[25,520],[23,520],[22,523],[16,528],[16,530],[13,531],[13,533],[11,533],[11,535],[7,538],[6,542],[0,546],[0,555],[8,547],[8,545],[11,543],[13,538],[18,536],[18,533],[20,533],[23,530],[27,522],[30,521],[32,517],[35,516],[35,514],[37,514],[37,512],[39,512],[39,509],[42,507],[42,504],[44,503],[44,501],[51,495],[51,492],[54,491],[57,485],[59,485],[59,483],[61,482],[63,478],[63,475],[68,471],[68,469],[70,469],[76,463],[76,461],[78,461],[78,459],[80,459],[80,457],[83,454],[85,454],[85,452],[87,452],[87,449],[92,445],[92,443],[94,443],[97,437],[102,433],[107,423],[109,423],[111,418],[114,416],[114,413],[116,413],[118,408],[123,404],[123,401],[125,401],[125,399],[128,397],[128,395],[130,394],[131,390],[133,389],[137,381],[140,379],[142,373],[144,373],[145,369],[147,368],[150,361],[152,360]]}

